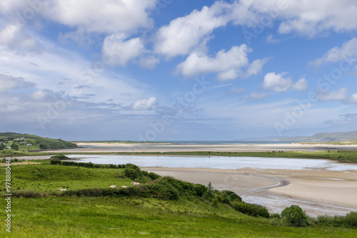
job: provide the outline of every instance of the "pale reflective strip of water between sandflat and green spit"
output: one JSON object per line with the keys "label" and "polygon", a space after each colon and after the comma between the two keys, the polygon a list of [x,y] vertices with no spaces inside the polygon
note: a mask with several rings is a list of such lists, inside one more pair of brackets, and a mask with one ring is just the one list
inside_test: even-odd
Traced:
{"label": "pale reflective strip of water between sandflat and green spit", "polygon": [[154,155],[69,155],[77,162],[121,165],[132,163],[140,167],[205,167],[212,169],[239,169],[252,167],[278,170],[356,170],[357,165],[342,164],[329,160],[224,157],[224,156],[154,156]]}

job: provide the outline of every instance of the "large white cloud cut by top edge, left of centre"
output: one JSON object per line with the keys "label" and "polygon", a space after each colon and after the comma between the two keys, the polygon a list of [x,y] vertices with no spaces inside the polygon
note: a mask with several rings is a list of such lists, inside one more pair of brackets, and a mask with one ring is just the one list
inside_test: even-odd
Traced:
{"label": "large white cloud cut by top edge, left of centre", "polygon": [[133,33],[153,25],[149,10],[155,6],[156,0],[46,0],[41,12],[89,33]]}

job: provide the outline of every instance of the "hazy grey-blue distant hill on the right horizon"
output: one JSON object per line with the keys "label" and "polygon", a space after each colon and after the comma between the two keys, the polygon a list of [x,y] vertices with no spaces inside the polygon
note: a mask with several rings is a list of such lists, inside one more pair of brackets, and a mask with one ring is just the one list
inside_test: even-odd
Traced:
{"label": "hazy grey-blue distant hill on the right horizon", "polygon": [[278,141],[298,141],[298,142],[331,142],[357,140],[357,130],[342,133],[318,133],[306,137],[281,138]]}

